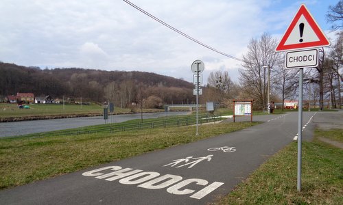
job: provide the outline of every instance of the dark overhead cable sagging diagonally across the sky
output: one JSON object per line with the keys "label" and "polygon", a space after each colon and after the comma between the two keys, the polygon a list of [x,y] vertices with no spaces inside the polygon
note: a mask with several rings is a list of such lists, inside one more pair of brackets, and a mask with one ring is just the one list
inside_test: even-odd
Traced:
{"label": "dark overhead cable sagging diagonally across the sky", "polygon": [[179,34],[182,35],[182,36],[185,36],[186,38],[188,38],[189,40],[192,40],[193,42],[196,42],[197,44],[200,44],[200,45],[206,47],[207,49],[210,49],[210,50],[212,50],[212,51],[215,51],[216,53],[220,53],[220,54],[222,54],[222,55],[225,55],[226,57],[229,57],[229,58],[231,58],[231,59],[235,59],[235,60],[237,60],[237,61],[243,61],[243,60],[241,60],[241,59],[239,59],[239,58],[237,58],[237,57],[234,57],[233,55],[228,55],[227,53],[224,53],[224,52],[222,52],[222,51],[218,51],[217,49],[214,49],[213,47],[208,46],[208,45],[204,44],[203,42],[200,42],[199,40],[196,40],[195,38],[192,38],[191,36],[188,36],[186,33],[183,33],[182,31],[180,31],[180,30],[178,30],[178,29],[172,27],[171,25],[165,23],[163,20],[160,20],[160,19],[156,18],[155,16],[153,16],[152,14],[150,14],[150,13],[148,13],[148,12],[145,12],[145,10],[139,8],[137,5],[134,5],[134,4],[131,3],[130,1],[128,1],[128,0],[123,0],[123,1],[125,1],[126,3],[128,3],[129,5],[131,5],[133,8],[139,10],[139,11],[142,12],[143,14],[145,14],[145,15],[149,16],[150,18],[156,20],[158,23],[161,23],[162,25],[165,25],[165,26],[168,27],[169,29],[175,31],[176,33],[179,33]]}

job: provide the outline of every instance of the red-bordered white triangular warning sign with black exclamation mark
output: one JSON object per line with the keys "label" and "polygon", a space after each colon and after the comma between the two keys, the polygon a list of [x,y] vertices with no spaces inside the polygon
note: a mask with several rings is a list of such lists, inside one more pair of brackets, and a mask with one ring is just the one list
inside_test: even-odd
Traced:
{"label": "red-bordered white triangular warning sign with black exclamation mark", "polygon": [[275,51],[316,48],[330,44],[305,4],[302,4]]}

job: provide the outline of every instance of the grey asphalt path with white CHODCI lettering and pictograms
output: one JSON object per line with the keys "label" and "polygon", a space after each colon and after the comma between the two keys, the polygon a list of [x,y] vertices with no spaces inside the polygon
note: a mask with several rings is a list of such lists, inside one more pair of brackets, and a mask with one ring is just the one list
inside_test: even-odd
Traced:
{"label": "grey asphalt path with white CHODCI lettering and pictograms", "polygon": [[[320,115],[303,113],[304,140],[313,136],[312,121]],[[208,204],[292,142],[298,131],[297,112],[253,120],[263,124],[6,189],[0,191],[0,204]],[[222,147],[228,152],[211,151]]]}

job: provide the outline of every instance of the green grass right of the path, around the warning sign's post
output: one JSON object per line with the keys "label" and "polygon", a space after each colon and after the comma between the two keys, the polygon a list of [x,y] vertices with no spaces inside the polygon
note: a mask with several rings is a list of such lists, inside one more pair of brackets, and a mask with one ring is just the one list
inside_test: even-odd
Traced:
{"label": "green grass right of the path, around the warning sign's post", "polygon": [[343,142],[343,130],[319,131],[303,142],[302,190],[296,189],[297,143],[261,165],[217,204],[343,204],[343,150],[318,141]]}

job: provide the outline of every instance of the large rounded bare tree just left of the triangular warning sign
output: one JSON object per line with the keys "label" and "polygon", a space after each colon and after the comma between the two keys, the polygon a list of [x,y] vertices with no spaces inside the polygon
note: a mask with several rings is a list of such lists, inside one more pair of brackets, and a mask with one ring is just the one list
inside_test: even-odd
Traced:
{"label": "large rounded bare tree just left of the triangular warning sign", "polygon": [[[280,53],[276,53],[277,41],[270,34],[263,33],[259,40],[252,39],[248,44],[248,53],[243,56],[244,69],[239,70],[241,87],[259,108],[265,109],[267,102],[266,70],[263,66],[274,68]],[[267,70],[268,71],[268,70]],[[272,75],[272,78],[274,76]],[[272,79],[271,79],[272,81]]]}

